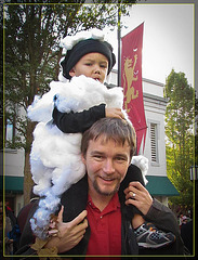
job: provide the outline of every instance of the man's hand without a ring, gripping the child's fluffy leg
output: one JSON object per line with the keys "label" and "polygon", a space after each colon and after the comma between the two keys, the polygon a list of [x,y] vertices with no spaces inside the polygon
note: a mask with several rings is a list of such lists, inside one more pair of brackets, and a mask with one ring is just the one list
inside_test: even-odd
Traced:
{"label": "man's hand without a ring, gripping the child's fluffy leg", "polygon": [[[57,247],[58,253],[65,252],[74,248],[82,239],[85,229],[88,227],[87,210],[83,210],[76,219],[70,222],[63,222],[63,210],[62,209],[57,217],[56,227],[51,230],[49,234],[53,236],[45,245],[47,248]],[[57,234],[57,236],[54,236]]]}

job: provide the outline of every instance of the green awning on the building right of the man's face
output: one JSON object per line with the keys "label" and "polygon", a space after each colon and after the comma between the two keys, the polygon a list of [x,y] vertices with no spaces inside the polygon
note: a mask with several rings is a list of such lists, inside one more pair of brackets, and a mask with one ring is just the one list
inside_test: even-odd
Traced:
{"label": "green awning on the building right of the man's face", "polygon": [[179,196],[180,193],[168,177],[146,176],[146,188],[153,196]]}

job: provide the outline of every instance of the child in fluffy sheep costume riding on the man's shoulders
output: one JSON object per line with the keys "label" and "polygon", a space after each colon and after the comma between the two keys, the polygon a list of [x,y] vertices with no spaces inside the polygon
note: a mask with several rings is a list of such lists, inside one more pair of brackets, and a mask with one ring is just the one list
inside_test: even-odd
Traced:
{"label": "child in fluffy sheep costume riding on the man's shoulders", "polygon": [[[98,34],[96,35],[98,37]],[[30,106],[32,115],[38,116],[37,118],[34,116],[34,120],[40,121],[41,115],[43,115],[43,121],[40,121],[34,131],[35,140],[30,155],[31,173],[36,184],[34,191],[36,194],[43,196],[39,203],[40,207],[31,219],[31,229],[34,234],[41,239],[47,238],[51,214],[55,212],[62,194],[85,174],[85,167],[80,156],[81,138],[79,138],[79,134],[81,136],[81,133],[101,118],[124,118],[124,113],[121,110],[123,101],[121,89],[119,95],[117,95],[117,88],[107,90],[106,86],[103,84],[116,62],[113,47],[104,41],[103,34],[100,38],[95,38],[96,35],[87,38],[83,32],[83,38],[81,35],[78,40],[77,36],[75,36],[75,40],[72,37],[66,37],[65,39],[65,43],[67,43],[70,42],[69,38],[71,38],[72,48],[70,44],[66,44],[67,52],[61,64],[63,66],[65,80],[70,80],[70,82],[53,82],[55,91],[60,88],[60,83],[62,86],[62,91],[57,91],[54,99],[53,122],[56,126],[51,123],[52,121],[45,123],[47,117],[49,116],[50,119],[51,115],[47,115],[48,113],[45,114],[45,112],[43,113],[42,108],[43,106],[44,110],[51,114],[53,106],[52,100],[55,93],[54,89],[51,89],[39,99],[39,102],[37,102],[36,99],[36,103],[34,102],[34,105]],[[49,109],[47,109],[47,100],[50,102],[50,104],[48,103]],[[62,102],[64,100],[65,102]],[[94,103],[90,103],[90,101]],[[67,106],[68,104],[75,104],[78,109],[71,105],[66,112],[62,109],[62,112],[58,110],[58,107],[64,107],[64,105]],[[57,128],[60,128],[62,132],[58,131]],[[136,156],[136,158],[138,156]],[[135,162],[131,161],[131,164]],[[133,181],[138,181],[144,185],[142,171],[136,170],[134,173],[133,170],[133,172],[130,173],[131,168],[132,167],[128,168],[128,178],[124,181],[126,187]],[[142,230],[142,227],[144,227],[143,224],[148,227],[142,213],[137,208],[133,208],[133,229],[140,227]],[[143,226],[141,227],[141,225]],[[154,225],[151,225],[151,227],[155,231],[157,229]],[[149,233],[151,232],[149,229]],[[153,239],[151,243],[149,243],[149,239],[143,239],[138,233],[137,230],[135,234],[140,247],[144,246],[147,248],[149,246],[153,248],[154,245],[155,248],[163,247],[164,243],[167,245],[174,239],[173,236],[172,238],[170,237],[170,234],[169,239],[167,234],[163,234],[163,238],[156,239],[155,243]]]}

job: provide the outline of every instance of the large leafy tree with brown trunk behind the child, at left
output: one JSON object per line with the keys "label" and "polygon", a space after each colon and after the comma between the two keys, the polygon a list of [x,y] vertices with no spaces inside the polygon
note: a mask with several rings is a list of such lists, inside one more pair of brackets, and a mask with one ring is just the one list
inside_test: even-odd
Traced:
{"label": "large leafy tree with brown trunk behind the child, at left", "polygon": [[[11,1],[12,2],[12,1]],[[117,4],[83,4],[83,1],[50,0],[26,1],[21,4],[4,4],[4,51],[5,51],[5,119],[16,130],[12,142],[6,145],[24,148],[24,199],[29,200],[32,186],[29,153],[35,123],[27,119],[27,107],[36,94],[49,90],[49,82],[57,80],[62,49],[60,40],[67,35],[91,28],[114,28],[117,25]],[[116,1],[111,1],[116,2]],[[66,4],[67,3],[67,4]],[[128,15],[128,4],[121,4]]]}

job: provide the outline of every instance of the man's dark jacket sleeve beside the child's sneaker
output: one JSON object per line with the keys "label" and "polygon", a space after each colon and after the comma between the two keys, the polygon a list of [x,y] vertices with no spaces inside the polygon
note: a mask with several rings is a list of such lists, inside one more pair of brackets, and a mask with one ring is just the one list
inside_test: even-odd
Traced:
{"label": "man's dark jacket sleeve beside the child's sneaker", "polygon": [[170,247],[170,250],[172,249],[170,255],[184,253],[184,244],[181,238],[179,223],[170,208],[154,198],[153,205],[147,214],[144,216],[144,219],[154,223],[158,229],[164,232],[172,232],[176,236],[175,243],[172,245],[172,248]]}

